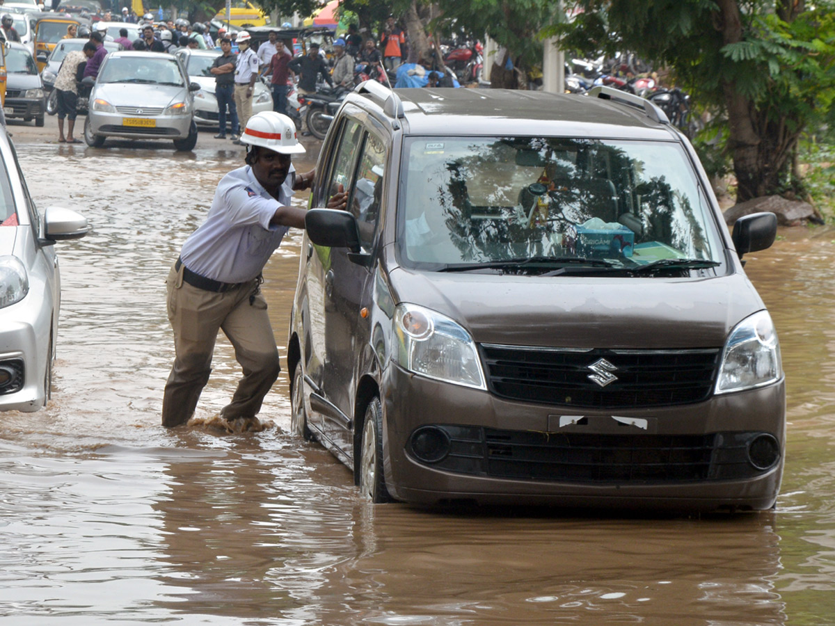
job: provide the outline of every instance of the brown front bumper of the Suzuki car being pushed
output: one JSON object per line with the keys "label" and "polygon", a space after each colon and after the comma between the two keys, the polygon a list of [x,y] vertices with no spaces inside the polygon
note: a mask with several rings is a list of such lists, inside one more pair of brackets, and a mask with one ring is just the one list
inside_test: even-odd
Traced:
{"label": "brown front bumper of the Suzuki car being pushed", "polygon": [[[507,401],[391,364],[382,399],[386,483],[406,502],[765,509],[780,487],[784,381],[613,414]],[[443,458],[417,457],[412,435],[426,426],[439,426],[427,441],[448,438]],[[755,441],[777,460],[754,467]]]}

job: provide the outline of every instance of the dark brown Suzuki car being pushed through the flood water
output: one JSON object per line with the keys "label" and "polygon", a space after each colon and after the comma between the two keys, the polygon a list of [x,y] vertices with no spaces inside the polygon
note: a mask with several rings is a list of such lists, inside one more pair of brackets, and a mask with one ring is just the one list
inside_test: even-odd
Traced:
{"label": "dark brown Suzuki car being pushed through the flood water", "polygon": [[317,173],[293,425],[374,502],[773,506],[785,386],[740,257],[776,220],[729,236],[660,109],[364,83]]}

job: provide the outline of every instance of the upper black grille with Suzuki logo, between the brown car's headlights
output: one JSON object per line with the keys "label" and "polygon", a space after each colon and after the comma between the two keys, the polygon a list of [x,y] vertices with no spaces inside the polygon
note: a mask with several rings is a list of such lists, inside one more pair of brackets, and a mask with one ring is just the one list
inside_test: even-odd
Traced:
{"label": "upper black grille with Suzuki logo, between the brown car's headlights", "polygon": [[721,356],[718,348],[575,351],[493,344],[479,347],[489,389],[496,396],[594,409],[704,401],[711,395]]}

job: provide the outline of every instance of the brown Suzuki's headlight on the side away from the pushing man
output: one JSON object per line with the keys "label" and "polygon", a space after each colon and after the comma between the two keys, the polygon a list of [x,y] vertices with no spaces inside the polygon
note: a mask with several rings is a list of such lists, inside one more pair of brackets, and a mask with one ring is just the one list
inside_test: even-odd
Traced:
{"label": "brown Suzuki's headlight on the side away from the pushing man", "polygon": [[731,331],[722,351],[716,393],[769,385],[782,376],[780,342],[772,318],[761,310]]}

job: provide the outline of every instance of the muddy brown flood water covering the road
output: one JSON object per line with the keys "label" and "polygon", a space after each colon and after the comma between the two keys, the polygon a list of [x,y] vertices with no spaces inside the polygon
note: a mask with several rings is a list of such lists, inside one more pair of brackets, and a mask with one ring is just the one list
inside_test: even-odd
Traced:
{"label": "muddy brown flood water covering the road", "polygon": [[[776,511],[423,511],[364,502],[345,467],[287,433],[286,372],[265,432],[160,426],[165,275],[239,149],[18,154],[38,206],[79,210],[93,231],[58,244],[53,400],[0,414],[3,623],[835,623],[835,230],[783,230],[746,257],[787,376]],[[265,271],[282,360],[300,243]],[[221,340],[200,416],[238,376]]]}

